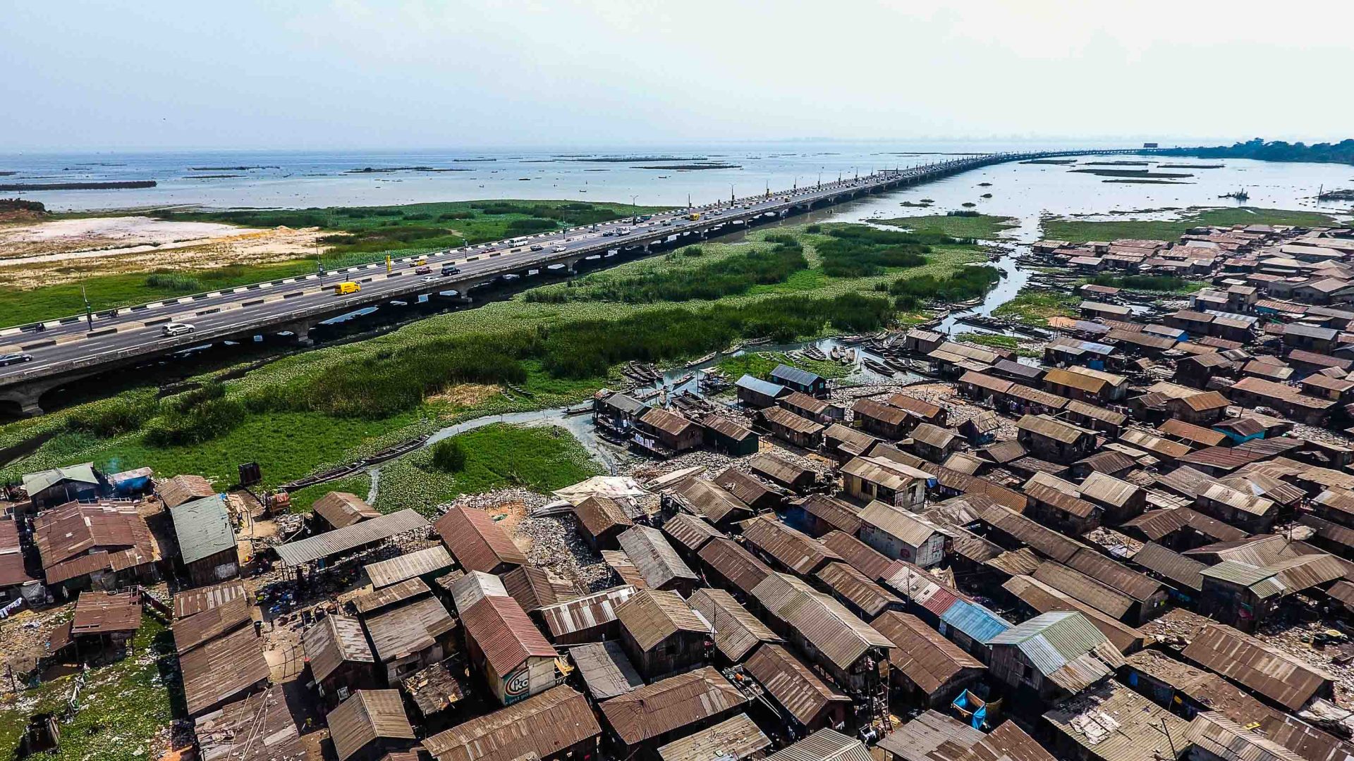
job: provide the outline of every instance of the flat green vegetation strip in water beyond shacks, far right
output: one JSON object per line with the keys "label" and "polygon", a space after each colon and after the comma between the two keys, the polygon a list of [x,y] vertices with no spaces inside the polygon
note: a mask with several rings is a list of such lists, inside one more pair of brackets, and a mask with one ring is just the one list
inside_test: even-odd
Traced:
{"label": "flat green vegetation strip in water beyond shacks, far right", "polygon": [[1043,237],[1051,241],[1113,241],[1140,238],[1177,241],[1190,227],[1200,225],[1334,225],[1335,218],[1316,211],[1289,211],[1282,209],[1205,209],[1185,214],[1179,219],[1114,219],[1110,222],[1083,222],[1080,219],[1045,219]]}

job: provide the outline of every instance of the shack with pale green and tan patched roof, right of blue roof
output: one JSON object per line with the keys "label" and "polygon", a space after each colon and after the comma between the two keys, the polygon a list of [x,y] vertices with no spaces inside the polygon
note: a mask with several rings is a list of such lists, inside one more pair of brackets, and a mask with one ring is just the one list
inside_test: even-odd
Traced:
{"label": "shack with pale green and tan patched roof, right of blue roof", "polygon": [[1076,695],[1124,665],[1124,655],[1078,612],[1040,613],[988,640],[995,678],[1039,700]]}

